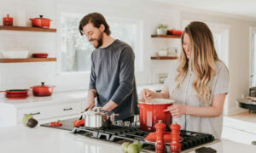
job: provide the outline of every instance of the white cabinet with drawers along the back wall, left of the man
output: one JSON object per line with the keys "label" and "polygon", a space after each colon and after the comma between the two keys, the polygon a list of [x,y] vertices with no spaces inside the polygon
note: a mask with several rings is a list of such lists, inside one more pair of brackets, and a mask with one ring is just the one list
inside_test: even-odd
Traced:
{"label": "white cabinet with drawers along the back wall, left of the man", "polygon": [[0,99],[0,127],[22,123],[24,114],[32,114],[39,124],[79,116],[84,110],[86,92],[53,94],[50,97]]}

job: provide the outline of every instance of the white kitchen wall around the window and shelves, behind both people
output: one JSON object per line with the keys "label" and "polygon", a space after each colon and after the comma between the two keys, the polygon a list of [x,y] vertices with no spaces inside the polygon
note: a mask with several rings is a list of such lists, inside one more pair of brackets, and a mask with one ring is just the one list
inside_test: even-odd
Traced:
{"label": "white kitchen wall around the window and shelves, behind both people", "polygon": [[[3,1],[3,2],[2,2]],[[237,110],[235,99],[241,94],[247,95],[249,88],[249,26],[256,26],[250,19],[236,19],[216,14],[207,14],[197,10],[184,11],[169,4],[148,1],[128,0],[1,0],[0,17],[11,14],[17,17],[25,11],[26,25],[30,26],[29,18],[44,14],[53,20],[51,28],[60,28],[61,13],[88,14],[101,12],[108,17],[140,20],[143,23],[143,71],[136,73],[138,84],[156,82],[158,73],[168,73],[173,61],[154,61],[150,56],[159,48],[179,47],[179,40],[156,39],[150,35],[155,33],[159,23],[168,24],[169,28],[181,28],[183,20],[201,20],[230,26],[229,63],[230,63],[230,99],[228,114]],[[193,13],[195,12],[195,13]],[[2,24],[2,22],[0,22]],[[88,74],[61,75],[60,65],[60,31],[57,33],[0,31],[1,48],[29,48],[32,52],[49,52],[50,57],[57,57],[58,62],[1,64],[1,89],[28,88],[39,82],[55,84],[55,91],[75,90],[88,87]]]}

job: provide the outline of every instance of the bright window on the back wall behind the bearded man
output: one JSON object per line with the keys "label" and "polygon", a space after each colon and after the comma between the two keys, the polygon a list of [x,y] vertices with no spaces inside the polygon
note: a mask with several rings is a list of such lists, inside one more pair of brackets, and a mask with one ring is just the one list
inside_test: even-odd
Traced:
{"label": "bright window on the back wall behind the bearded man", "polygon": [[[90,71],[90,55],[95,49],[86,37],[80,36],[79,21],[84,15],[61,15],[61,72]],[[107,19],[112,32],[111,37],[128,43],[133,49],[136,70],[139,63],[139,33],[140,22],[137,20]]]}

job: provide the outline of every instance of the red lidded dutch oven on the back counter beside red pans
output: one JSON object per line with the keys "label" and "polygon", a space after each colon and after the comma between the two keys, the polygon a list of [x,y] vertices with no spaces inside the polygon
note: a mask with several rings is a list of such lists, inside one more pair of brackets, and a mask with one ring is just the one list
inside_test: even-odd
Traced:
{"label": "red lidded dutch oven on the back counter beside red pans", "polygon": [[53,88],[55,86],[46,86],[44,82],[41,82],[42,85],[31,87],[34,96],[50,96],[53,93]]}

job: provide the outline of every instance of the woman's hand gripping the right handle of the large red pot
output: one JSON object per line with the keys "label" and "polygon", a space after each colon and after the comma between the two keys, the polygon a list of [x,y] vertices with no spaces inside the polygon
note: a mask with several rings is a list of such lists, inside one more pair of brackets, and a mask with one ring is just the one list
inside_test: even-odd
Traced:
{"label": "woman's hand gripping the right handle of the large red pot", "polygon": [[180,117],[186,114],[186,105],[171,105],[165,111],[170,111],[171,115],[174,117]]}

